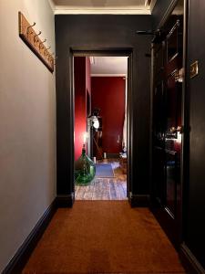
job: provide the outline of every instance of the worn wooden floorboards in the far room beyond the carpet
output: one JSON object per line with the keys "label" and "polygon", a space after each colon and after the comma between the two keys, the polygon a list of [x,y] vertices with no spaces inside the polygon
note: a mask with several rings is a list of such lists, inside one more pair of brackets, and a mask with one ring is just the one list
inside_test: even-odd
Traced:
{"label": "worn wooden floorboards in the far room beyond the carpet", "polygon": [[[100,161],[99,161],[100,162]],[[76,200],[127,200],[127,174],[123,174],[118,159],[106,159],[111,163],[114,178],[95,178],[87,186],[75,186]]]}

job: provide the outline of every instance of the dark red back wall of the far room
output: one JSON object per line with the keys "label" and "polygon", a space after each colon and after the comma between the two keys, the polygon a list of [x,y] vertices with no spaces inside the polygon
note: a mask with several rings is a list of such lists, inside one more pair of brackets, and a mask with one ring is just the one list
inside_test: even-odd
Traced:
{"label": "dark red back wall of the far room", "polygon": [[91,86],[92,110],[94,108],[101,110],[103,152],[120,153],[125,116],[126,80],[123,77],[92,77]]}

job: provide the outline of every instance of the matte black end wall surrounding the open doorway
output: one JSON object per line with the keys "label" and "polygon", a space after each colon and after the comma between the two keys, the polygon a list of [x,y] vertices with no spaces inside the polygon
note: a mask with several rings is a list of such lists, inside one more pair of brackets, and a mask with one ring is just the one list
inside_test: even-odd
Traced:
{"label": "matte black end wall surrounding the open doorway", "polygon": [[149,94],[151,37],[136,30],[150,29],[151,16],[55,16],[56,21],[56,134],[57,195],[70,195],[73,169],[71,47],[128,47],[133,50],[131,110],[133,111],[134,195],[149,194]]}

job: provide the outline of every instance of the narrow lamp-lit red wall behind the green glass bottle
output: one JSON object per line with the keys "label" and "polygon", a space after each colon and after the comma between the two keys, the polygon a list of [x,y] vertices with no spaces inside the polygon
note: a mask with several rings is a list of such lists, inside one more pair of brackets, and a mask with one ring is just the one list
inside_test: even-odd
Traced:
{"label": "narrow lamp-lit red wall behind the green glass bottle", "polygon": [[87,132],[87,90],[90,93],[89,58],[74,58],[75,83],[75,160],[80,156],[83,146],[83,133]]}

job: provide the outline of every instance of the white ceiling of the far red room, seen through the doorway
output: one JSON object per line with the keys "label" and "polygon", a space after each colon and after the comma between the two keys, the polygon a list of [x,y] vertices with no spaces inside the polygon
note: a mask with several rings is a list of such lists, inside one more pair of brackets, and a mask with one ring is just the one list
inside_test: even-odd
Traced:
{"label": "white ceiling of the far red room, seen through the doorway", "polygon": [[91,76],[125,76],[128,71],[127,57],[91,58]]}

